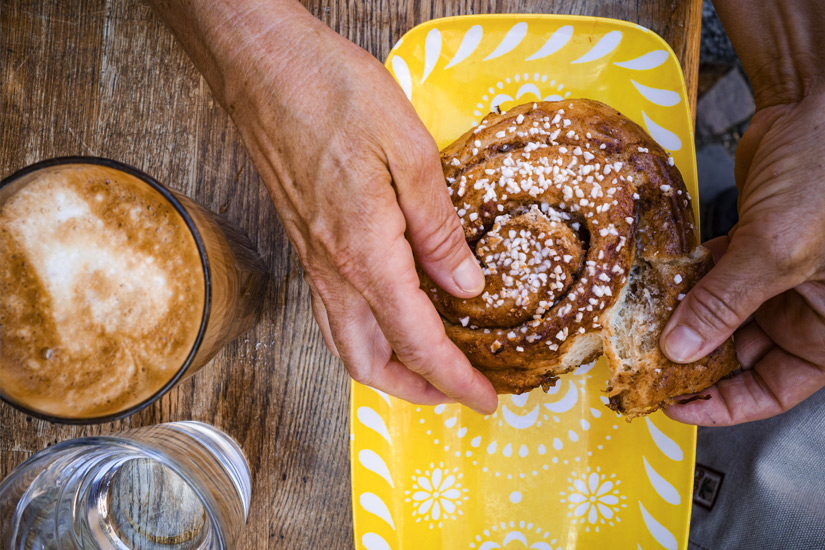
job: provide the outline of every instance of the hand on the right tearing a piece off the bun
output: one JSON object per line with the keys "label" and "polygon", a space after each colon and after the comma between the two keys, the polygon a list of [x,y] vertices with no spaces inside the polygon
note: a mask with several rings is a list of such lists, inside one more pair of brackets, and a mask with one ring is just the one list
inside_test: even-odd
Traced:
{"label": "hand on the right tearing a piece off the bun", "polygon": [[[665,412],[729,425],[784,412],[825,386],[825,94],[756,113],[736,153],[739,222],[663,332],[673,361],[734,334],[742,371]],[[734,332],[735,331],[735,332]]]}

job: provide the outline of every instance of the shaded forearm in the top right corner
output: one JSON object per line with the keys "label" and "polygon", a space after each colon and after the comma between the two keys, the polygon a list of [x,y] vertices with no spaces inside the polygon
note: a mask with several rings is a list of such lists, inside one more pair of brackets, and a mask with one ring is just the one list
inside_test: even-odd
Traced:
{"label": "shaded forearm in the top right corner", "polygon": [[759,108],[825,91],[821,0],[715,0]]}

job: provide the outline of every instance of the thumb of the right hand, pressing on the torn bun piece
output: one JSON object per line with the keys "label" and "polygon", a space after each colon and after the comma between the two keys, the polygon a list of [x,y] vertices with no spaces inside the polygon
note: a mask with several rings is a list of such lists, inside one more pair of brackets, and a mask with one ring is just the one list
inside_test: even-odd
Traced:
{"label": "thumb of the right hand, pressing on the torn bun piece", "polygon": [[787,290],[784,277],[759,254],[731,246],[671,316],[660,340],[664,354],[676,363],[701,359],[731,334],[760,305]]}

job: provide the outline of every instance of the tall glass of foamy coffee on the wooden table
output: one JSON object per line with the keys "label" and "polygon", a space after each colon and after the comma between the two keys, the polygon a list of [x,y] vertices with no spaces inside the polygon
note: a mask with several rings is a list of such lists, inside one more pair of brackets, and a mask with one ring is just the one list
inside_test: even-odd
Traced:
{"label": "tall glass of foamy coffee on the wooden table", "polygon": [[266,267],[246,236],[94,157],[0,182],[0,398],[51,421],[149,405],[249,329]]}

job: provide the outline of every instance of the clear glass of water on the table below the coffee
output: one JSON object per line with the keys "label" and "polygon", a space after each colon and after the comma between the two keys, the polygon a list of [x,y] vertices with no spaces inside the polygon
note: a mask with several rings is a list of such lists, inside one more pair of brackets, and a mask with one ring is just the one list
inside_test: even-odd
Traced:
{"label": "clear glass of water on the table below the coffee", "polygon": [[231,549],[250,493],[240,447],[208,424],[73,439],[0,483],[0,548]]}

